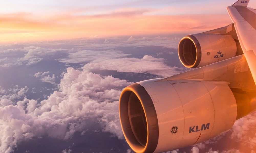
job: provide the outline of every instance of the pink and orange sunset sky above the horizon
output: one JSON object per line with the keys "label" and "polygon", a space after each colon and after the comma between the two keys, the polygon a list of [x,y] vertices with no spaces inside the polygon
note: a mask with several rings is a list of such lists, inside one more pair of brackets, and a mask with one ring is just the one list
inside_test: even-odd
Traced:
{"label": "pink and orange sunset sky above the horizon", "polygon": [[[0,41],[193,33],[231,23],[234,1],[10,0],[1,2]],[[256,8],[256,1],[249,7]]]}

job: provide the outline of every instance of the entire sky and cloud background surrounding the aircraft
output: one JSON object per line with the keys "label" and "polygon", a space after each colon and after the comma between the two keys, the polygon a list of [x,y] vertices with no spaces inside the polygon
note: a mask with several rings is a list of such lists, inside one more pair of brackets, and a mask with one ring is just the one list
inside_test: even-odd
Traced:
{"label": "entire sky and cloud background surrounding the aircraft", "polygon": [[[119,121],[122,89],[188,71],[180,39],[230,24],[233,3],[1,2],[0,153],[131,153]],[[256,113],[168,153],[185,152],[255,153]]]}

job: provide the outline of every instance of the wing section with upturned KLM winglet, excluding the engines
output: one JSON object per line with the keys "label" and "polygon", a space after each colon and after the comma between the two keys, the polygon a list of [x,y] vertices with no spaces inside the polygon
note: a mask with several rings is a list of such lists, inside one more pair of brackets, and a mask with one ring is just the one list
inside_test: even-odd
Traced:
{"label": "wing section with upturned KLM winglet, excluding the engines", "polygon": [[256,83],[256,10],[247,7],[248,3],[249,0],[238,0],[227,10]]}

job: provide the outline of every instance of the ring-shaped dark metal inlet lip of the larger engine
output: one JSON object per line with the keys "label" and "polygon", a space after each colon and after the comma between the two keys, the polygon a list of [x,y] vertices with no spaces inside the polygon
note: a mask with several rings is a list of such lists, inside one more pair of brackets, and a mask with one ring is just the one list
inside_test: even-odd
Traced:
{"label": "ring-shaped dark metal inlet lip of the larger engine", "polygon": [[[146,116],[147,142],[145,146],[136,140],[129,122],[128,99],[131,93],[134,93],[140,100]],[[122,91],[119,100],[119,117],[124,137],[133,151],[141,153],[155,151],[159,138],[158,119],[153,101],[143,86],[134,83]]]}

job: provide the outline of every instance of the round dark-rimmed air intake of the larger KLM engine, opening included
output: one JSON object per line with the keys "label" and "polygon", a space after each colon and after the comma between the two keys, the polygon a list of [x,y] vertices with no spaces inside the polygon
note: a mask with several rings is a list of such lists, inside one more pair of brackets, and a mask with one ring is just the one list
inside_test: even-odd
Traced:
{"label": "round dark-rimmed air intake of the larger KLM engine, opening included", "polygon": [[144,87],[134,83],[120,95],[119,117],[127,143],[135,152],[152,152],[158,144],[156,110]]}

